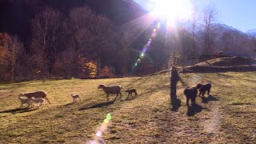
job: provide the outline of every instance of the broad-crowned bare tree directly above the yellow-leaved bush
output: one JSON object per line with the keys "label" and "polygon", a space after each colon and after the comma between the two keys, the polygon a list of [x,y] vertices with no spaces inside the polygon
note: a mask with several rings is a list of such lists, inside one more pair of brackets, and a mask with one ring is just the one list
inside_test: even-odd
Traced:
{"label": "broad-crowned bare tree directly above the yellow-leaved bush", "polygon": [[[75,8],[70,12],[70,39],[74,48],[74,59],[87,58],[97,62],[97,75],[99,73],[102,51],[110,49],[114,42],[113,23],[105,16],[95,14],[88,6]],[[81,66],[77,64],[77,71]]]}

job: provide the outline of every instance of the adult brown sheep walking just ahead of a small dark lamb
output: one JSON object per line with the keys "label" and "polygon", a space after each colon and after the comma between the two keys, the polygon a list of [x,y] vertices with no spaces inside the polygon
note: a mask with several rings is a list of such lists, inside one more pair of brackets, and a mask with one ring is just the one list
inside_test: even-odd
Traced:
{"label": "adult brown sheep walking just ahead of a small dark lamb", "polygon": [[98,89],[102,89],[105,91],[106,101],[108,101],[110,99],[109,94],[117,94],[117,96],[114,98],[114,101],[118,97],[118,94],[120,94],[120,97],[122,98],[122,94],[121,94],[122,86],[119,86],[119,85],[105,86],[105,85],[101,84],[98,86]]}

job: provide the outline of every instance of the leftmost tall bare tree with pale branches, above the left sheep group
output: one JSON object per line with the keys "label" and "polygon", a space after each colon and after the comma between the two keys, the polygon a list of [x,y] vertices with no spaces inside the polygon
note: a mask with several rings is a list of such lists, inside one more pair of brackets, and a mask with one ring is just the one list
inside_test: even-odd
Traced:
{"label": "leftmost tall bare tree with pale branches, above the left sheep group", "polygon": [[32,20],[31,51],[36,71],[52,74],[58,50],[58,29],[62,22],[62,14],[58,10],[46,7]]}

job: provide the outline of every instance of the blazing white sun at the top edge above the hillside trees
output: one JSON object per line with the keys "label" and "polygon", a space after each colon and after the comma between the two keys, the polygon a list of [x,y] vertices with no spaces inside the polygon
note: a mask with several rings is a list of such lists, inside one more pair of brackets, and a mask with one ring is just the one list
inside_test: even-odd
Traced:
{"label": "blazing white sun at the top edge above the hillside trees", "polygon": [[168,21],[188,18],[190,16],[190,0],[151,0],[150,7],[154,16]]}

